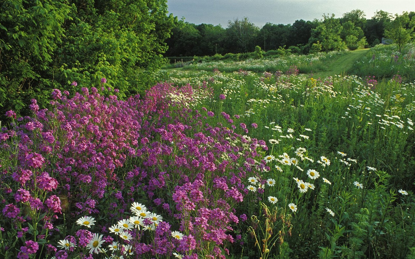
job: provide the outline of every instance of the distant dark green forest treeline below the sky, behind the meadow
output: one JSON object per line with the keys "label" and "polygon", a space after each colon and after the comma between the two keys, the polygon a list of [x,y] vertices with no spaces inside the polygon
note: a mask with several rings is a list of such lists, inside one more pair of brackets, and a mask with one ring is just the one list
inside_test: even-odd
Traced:
{"label": "distant dark green forest treeline below the sky, behind the meadow", "polygon": [[246,53],[254,51],[255,46],[261,47],[262,51],[299,54],[346,48],[354,50],[375,46],[385,37],[393,38],[397,27],[413,34],[415,12],[392,15],[380,10],[371,19],[365,16],[362,10],[352,10],[341,18],[324,14],[320,20],[300,19],[286,25],[266,23],[261,29],[247,17],[229,21],[226,29],[220,25],[196,25],[180,20],[166,40],[168,51],[164,56]]}

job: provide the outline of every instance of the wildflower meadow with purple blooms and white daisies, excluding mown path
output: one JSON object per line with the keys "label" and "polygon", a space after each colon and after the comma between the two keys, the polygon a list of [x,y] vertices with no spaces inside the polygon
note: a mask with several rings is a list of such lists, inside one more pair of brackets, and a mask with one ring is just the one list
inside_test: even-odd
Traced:
{"label": "wildflower meadow with purple blooms and white daisies, excluding mown path", "polygon": [[0,257],[415,258],[415,46],[396,50],[327,77],[347,53],[193,63],[141,97],[103,78],[8,111]]}

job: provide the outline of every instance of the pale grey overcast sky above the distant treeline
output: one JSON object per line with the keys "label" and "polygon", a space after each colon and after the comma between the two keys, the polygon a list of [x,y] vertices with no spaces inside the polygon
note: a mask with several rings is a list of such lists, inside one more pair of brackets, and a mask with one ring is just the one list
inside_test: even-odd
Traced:
{"label": "pale grey overcast sky above the distant treeline", "polygon": [[295,20],[322,19],[323,14],[342,17],[355,9],[363,10],[366,19],[377,10],[402,14],[415,12],[415,0],[167,0],[168,12],[185,22],[222,25],[229,20],[248,17],[258,27],[267,22],[293,24]]}

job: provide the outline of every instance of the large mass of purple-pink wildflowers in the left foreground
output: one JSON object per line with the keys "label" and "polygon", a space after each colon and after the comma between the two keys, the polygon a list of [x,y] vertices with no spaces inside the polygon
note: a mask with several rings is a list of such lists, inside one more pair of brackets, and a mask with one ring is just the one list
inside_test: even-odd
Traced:
{"label": "large mass of purple-pink wildflowers in the left foreground", "polygon": [[[269,169],[259,154],[267,147],[262,140],[235,133],[229,114],[221,114],[229,125],[210,125],[212,111],[192,110],[166,98],[177,94],[191,101],[195,90],[213,96],[206,84],[194,89],[159,83],[142,99],[137,95],[120,101],[92,87],[72,98],[53,90],[50,110],[39,109],[32,100],[32,117],[18,118],[18,124],[0,131],[0,146],[14,161],[0,177],[1,191],[9,194],[2,207],[10,221],[6,231],[27,224],[23,216],[29,215],[28,220],[40,223],[37,239],[59,236],[56,226],[63,224],[65,212],[67,224],[81,214],[107,216],[94,226],[105,232],[111,219],[121,219],[129,203],[140,197],[165,220],[156,226],[151,241],[129,230],[138,240],[129,243],[136,254],[171,256],[176,251],[184,258],[198,258],[208,251],[206,258],[225,258],[226,249],[220,247],[234,242],[237,204],[247,195],[244,179]],[[239,127],[248,131],[244,123]],[[147,221],[144,224],[151,224]],[[19,258],[26,258],[39,245],[32,234],[19,229],[27,239]],[[186,235],[172,240],[173,230]],[[66,240],[76,247],[86,247],[93,238],[89,230],[72,235],[76,238]],[[110,242],[112,238],[105,237],[105,243]],[[56,258],[71,252],[46,248]]]}

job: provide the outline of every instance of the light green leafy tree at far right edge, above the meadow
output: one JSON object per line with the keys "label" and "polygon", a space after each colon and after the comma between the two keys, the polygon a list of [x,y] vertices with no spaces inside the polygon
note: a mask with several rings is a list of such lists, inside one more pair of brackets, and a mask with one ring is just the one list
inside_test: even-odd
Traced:
{"label": "light green leafy tree at far right edge, above the meadow", "polygon": [[395,19],[387,25],[385,36],[392,39],[399,47],[399,52],[403,45],[411,41],[414,33],[415,18],[409,19],[408,12],[403,12],[402,15],[395,15]]}

